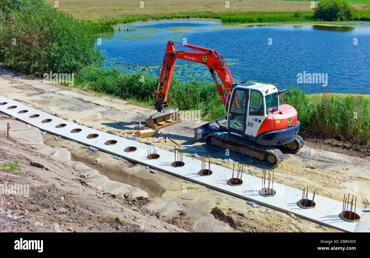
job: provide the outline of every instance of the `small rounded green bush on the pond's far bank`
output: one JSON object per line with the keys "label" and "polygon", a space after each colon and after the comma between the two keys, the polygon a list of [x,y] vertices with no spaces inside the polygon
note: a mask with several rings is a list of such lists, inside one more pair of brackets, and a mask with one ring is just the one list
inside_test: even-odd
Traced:
{"label": "small rounded green bush on the pond's far bank", "polygon": [[346,1],[320,1],[314,9],[314,18],[324,21],[353,21],[356,11]]}

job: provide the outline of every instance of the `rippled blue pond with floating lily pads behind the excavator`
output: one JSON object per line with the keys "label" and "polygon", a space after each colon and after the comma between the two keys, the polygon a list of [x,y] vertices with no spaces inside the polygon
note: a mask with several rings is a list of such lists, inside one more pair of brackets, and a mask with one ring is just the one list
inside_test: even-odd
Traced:
{"label": "rippled blue pond with floating lily pads behind the excavator", "polygon": [[[196,18],[146,21],[115,26],[115,33],[100,35],[96,47],[105,57],[104,67],[158,76],[168,40],[186,41],[219,52],[235,82],[265,82],[307,93],[370,94],[369,26],[225,24]],[[181,45],[176,50],[192,51]],[[313,73],[321,74],[322,81],[314,76],[309,81]],[[185,60],[176,60],[174,76],[213,81],[205,65]]]}

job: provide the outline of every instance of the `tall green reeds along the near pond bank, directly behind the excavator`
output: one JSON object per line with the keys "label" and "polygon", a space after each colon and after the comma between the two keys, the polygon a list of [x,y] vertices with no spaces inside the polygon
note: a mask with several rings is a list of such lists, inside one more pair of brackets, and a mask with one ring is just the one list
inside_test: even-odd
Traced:
{"label": "tall green reeds along the near pond bank, directly behind the excavator", "polygon": [[[151,105],[155,100],[158,78],[142,72],[122,73],[115,68],[84,68],[75,76],[81,88],[119,96]],[[282,90],[282,89],[280,89]],[[295,107],[301,130],[370,147],[370,99],[363,95],[307,95],[297,88],[292,95],[282,95],[281,103]],[[173,78],[168,98],[170,108],[200,110],[202,119],[211,121],[224,116],[224,106],[213,82],[188,81]]]}

